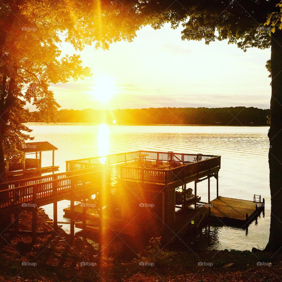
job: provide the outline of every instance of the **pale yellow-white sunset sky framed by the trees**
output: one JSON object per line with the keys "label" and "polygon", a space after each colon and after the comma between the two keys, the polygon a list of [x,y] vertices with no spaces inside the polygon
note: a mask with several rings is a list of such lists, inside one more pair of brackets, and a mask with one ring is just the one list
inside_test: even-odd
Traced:
{"label": "pale yellow-white sunset sky framed by the trees", "polygon": [[[227,41],[182,41],[181,30],[146,26],[133,42],[79,53],[92,76],[50,90],[62,109],[158,107],[269,108],[270,49],[242,51]],[[74,49],[64,43],[64,50]]]}

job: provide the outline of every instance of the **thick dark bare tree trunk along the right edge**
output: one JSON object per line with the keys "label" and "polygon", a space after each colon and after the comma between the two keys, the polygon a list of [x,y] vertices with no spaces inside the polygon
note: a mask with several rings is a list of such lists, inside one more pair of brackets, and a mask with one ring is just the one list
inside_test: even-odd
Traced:
{"label": "thick dark bare tree trunk along the right edge", "polygon": [[268,137],[271,222],[266,251],[282,251],[282,31],[271,35],[271,122]]}

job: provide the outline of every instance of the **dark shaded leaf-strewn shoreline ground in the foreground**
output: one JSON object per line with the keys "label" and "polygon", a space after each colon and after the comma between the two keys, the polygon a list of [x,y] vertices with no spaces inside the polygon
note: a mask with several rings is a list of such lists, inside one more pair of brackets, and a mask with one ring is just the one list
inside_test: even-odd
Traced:
{"label": "dark shaded leaf-strewn shoreline ground in the foreground", "polygon": [[[29,217],[28,212],[21,215],[21,229],[29,230]],[[38,231],[52,230],[43,209],[38,217]],[[122,240],[105,244],[100,252],[97,243],[81,235],[71,243],[59,228],[57,234],[39,236],[31,245],[29,236],[4,232],[0,281],[248,281],[254,273],[256,281],[275,281],[282,274],[281,253],[273,258],[256,249],[171,252],[154,241],[132,256]]]}

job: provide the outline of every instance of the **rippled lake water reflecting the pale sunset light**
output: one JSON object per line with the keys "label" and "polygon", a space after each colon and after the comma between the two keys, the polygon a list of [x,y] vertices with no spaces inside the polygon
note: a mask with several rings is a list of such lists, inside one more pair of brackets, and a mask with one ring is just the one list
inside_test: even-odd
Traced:
{"label": "rippled lake water reflecting the pale sunset light", "polygon": [[[89,124],[28,123],[34,141],[48,141],[58,148],[55,165],[66,171],[66,160],[94,157],[135,150],[174,151],[221,155],[219,196],[253,200],[254,194],[265,198],[265,214],[248,229],[208,226],[185,238],[187,244],[214,249],[251,250],[268,242],[270,226],[270,190],[267,137],[268,127],[221,126],[119,126]],[[42,154],[42,166],[49,166],[52,152]],[[194,183],[187,187],[194,189]],[[197,194],[207,202],[207,182],[197,186]],[[216,197],[216,180],[211,179],[211,199]],[[58,221],[69,201],[58,203]],[[53,219],[53,206],[43,207]],[[63,228],[68,232],[69,225]],[[196,241],[197,240],[197,241]],[[189,242],[188,242],[189,241]]]}

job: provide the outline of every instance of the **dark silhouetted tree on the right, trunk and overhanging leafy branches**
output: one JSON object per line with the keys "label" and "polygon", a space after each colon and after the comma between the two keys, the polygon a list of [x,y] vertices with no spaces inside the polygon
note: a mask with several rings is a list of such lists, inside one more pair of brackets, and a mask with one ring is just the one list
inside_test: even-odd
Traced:
{"label": "dark silhouetted tree on the right, trunk and overhanging leafy branches", "polygon": [[155,28],[170,22],[183,26],[182,39],[228,40],[244,51],[271,47],[271,122],[269,168],[271,226],[266,250],[282,250],[282,31],[281,3],[277,0],[139,1],[138,11]]}

